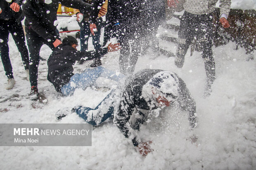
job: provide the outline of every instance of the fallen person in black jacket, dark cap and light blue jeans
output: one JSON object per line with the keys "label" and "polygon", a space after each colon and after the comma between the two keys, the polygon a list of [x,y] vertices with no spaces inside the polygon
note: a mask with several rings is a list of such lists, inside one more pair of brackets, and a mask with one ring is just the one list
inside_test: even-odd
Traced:
{"label": "fallen person in black jacket, dark cap and light blue jeans", "polygon": [[73,74],[73,65],[76,61],[80,61],[81,58],[86,61],[100,58],[107,52],[120,49],[119,44],[110,43],[108,47],[95,51],[77,51],[76,38],[67,36],[62,43],[52,51],[47,61],[47,79],[54,85],[56,91],[64,95],[72,95],[76,88],[85,89],[94,84],[98,77],[107,77],[114,81],[119,80],[119,76],[116,76],[115,72],[103,67],[85,69],[82,73]]}

